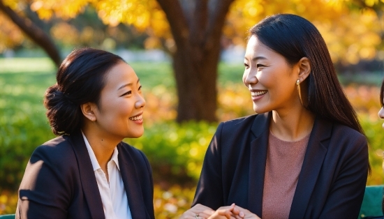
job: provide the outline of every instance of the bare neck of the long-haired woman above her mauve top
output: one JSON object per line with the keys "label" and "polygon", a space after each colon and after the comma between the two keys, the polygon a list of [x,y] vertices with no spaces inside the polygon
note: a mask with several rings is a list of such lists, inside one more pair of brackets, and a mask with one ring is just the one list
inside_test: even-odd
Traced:
{"label": "bare neck of the long-haired woman above her mauve top", "polygon": [[304,107],[289,112],[272,111],[269,128],[279,139],[293,142],[311,133],[315,115]]}

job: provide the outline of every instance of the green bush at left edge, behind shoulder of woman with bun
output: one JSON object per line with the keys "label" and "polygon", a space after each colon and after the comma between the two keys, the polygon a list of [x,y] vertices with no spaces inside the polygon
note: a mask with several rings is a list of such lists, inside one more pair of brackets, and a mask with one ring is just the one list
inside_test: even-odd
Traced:
{"label": "green bush at left edge, behind shoulder of woman with bun", "polygon": [[0,188],[16,190],[36,146],[54,137],[44,114],[0,108]]}

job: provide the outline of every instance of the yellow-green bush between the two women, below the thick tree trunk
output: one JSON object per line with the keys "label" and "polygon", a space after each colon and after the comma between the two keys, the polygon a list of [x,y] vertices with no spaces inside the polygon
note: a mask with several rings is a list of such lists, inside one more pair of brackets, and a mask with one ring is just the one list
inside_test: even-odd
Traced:
{"label": "yellow-green bush between the two women, below the thick tree trunk", "polygon": [[145,128],[138,139],[126,139],[141,149],[152,165],[154,180],[161,184],[195,185],[216,123],[173,121]]}

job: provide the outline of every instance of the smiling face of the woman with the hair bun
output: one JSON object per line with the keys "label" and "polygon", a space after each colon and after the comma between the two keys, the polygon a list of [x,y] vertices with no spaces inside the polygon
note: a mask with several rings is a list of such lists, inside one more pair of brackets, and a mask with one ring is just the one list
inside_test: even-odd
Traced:
{"label": "smiling face of the woman with the hair bun", "polygon": [[105,86],[95,110],[98,130],[105,137],[140,137],[144,133],[144,107],[135,71],[127,63],[117,63],[105,75]]}

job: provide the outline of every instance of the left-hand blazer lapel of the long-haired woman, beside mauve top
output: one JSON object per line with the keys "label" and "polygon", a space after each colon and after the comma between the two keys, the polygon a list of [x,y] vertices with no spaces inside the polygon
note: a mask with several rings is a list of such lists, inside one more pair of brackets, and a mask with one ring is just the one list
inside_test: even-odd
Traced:
{"label": "left-hand blazer lapel of the long-haired woman, beside mauve top", "polygon": [[249,162],[248,210],[262,218],[263,187],[267,160],[269,121],[272,113],[259,114],[253,121],[251,132],[251,158]]}

